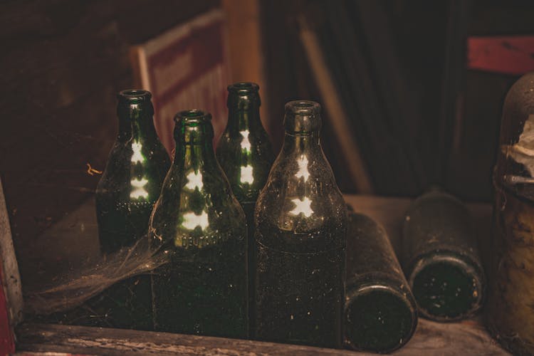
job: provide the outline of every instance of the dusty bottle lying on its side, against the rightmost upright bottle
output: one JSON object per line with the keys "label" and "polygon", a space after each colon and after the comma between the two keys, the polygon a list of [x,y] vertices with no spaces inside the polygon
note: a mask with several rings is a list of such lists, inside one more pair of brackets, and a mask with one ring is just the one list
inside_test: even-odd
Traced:
{"label": "dusty bottle lying on its side, against the rightmost upright bottle", "polygon": [[392,352],[406,345],[417,326],[417,305],[385,229],[349,212],[345,345]]}

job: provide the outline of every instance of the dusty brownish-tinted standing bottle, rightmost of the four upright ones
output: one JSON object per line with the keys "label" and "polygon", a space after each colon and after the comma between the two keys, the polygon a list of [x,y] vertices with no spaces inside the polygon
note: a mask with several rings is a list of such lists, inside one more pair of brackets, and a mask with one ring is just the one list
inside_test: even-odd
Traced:
{"label": "dusty brownish-tinted standing bottle, rightmost of the four upright ones", "polygon": [[341,346],[347,207],[320,125],[318,103],[286,104],[283,148],[256,203],[259,340]]}

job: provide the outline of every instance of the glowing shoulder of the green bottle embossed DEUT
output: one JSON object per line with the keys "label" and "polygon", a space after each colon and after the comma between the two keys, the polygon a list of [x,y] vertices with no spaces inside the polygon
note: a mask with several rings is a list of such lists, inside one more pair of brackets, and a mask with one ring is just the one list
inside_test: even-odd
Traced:
{"label": "glowing shoulder of the green bottle embossed DEUT", "polygon": [[150,230],[175,248],[246,237],[243,209],[218,167],[181,169],[173,166],[150,219]]}

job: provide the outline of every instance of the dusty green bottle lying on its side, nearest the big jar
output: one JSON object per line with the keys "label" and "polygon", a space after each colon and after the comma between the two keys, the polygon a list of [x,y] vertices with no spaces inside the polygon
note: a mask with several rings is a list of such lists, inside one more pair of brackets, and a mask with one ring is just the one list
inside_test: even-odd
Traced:
{"label": "dusty green bottle lying on its side, nearest the big jar", "polygon": [[425,318],[462,320],[482,308],[486,278],[471,214],[439,187],[406,213],[402,266]]}

